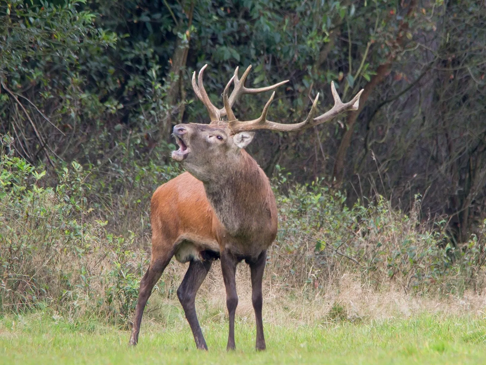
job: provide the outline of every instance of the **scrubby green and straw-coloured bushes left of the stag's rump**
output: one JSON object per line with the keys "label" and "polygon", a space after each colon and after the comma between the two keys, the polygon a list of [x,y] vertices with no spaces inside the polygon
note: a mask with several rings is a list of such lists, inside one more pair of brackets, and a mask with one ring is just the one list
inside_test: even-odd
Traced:
{"label": "scrubby green and straw-coloured bushes left of the stag's rump", "polygon": [[49,307],[126,326],[146,255],[133,235],[109,234],[95,219],[81,165],[65,167],[55,188],[39,186],[45,171],[12,154],[1,155],[0,171],[0,311]]}

